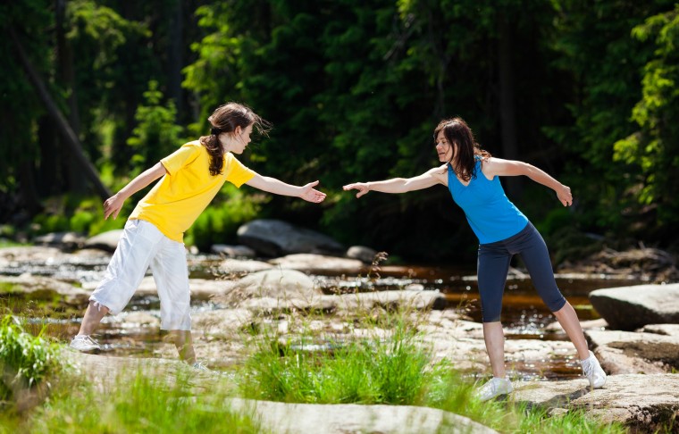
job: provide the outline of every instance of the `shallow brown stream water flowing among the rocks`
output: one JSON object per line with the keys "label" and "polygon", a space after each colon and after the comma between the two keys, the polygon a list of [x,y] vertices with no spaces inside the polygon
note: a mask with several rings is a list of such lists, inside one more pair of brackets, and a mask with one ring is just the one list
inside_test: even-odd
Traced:
{"label": "shallow brown stream water flowing among the rocks", "polygon": [[[215,255],[195,255],[189,258],[191,278],[214,278],[214,266],[222,261]],[[18,267],[0,269],[0,275],[21,275],[29,273],[37,276],[50,276],[76,284],[96,282],[105,271],[108,257],[78,258],[74,261],[47,261],[45,263],[21,263]],[[464,313],[473,321],[481,321],[478,291],[474,270],[455,269],[438,266],[384,266],[367,276],[339,275],[327,273],[312,276],[325,292],[338,289],[342,292],[353,290],[388,290],[420,288],[438,290],[445,295],[448,309]],[[610,279],[607,276],[589,276],[586,279],[574,276],[557,275],[558,287],[571,305],[574,306],[581,321],[597,318],[591,308],[588,294],[598,288],[611,288],[641,283],[634,280]],[[4,298],[4,300],[3,300]],[[84,311],[57,312],[45,309],[31,309],[27,300],[10,299],[0,292],[1,305],[10,305],[13,310],[28,315],[29,322],[40,327],[46,324],[46,333],[68,341],[80,327]],[[17,304],[23,304],[17,306]],[[124,320],[133,313],[150,313],[159,316],[159,300],[156,296],[135,296],[125,311],[115,318],[107,316],[97,330],[97,337],[105,344],[110,355],[153,356],[157,346],[164,345],[161,335],[155,328],[130,326]],[[27,307],[28,306],[28,307]],[[193,313],[219,308],[210,301],[193,300]],[[33,314],[31,314],[33,313]],[[554,316],[542,304],[532,288],[529,278],[520,272],[510,273],[503,298],[502,321],[507,339],[567,340],[563,331],[546,329],[555,321]],[[563,355],[552,355],[549,361],[533,360],[515,363],[512,373],[524,379],[564,379],[580,375],[579,364],[574,351]]]}

